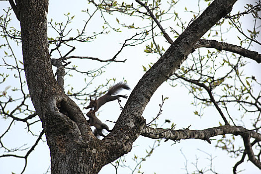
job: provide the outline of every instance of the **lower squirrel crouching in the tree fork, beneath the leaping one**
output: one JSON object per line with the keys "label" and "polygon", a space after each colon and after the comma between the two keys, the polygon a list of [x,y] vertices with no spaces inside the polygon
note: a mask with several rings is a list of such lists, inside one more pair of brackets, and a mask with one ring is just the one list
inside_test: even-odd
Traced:
{"label": "lower squirrel crouching in the tree fork, beneath the leaping one", "polygon": [[87,117],[89,117],[89,120],[87,120],[89,125],[95,127],[93,134],[95,135],[96,138],[98,138],[98,136],[105,137],[105,135],[103,135],[103,133],[102,133],[102,129],[106,129],[106,131],[111,132],[111,130],[109,130],[109,127],[106,124],[102,123],[96,117],[94,110],[88,111],[86,115],[87,115]]}

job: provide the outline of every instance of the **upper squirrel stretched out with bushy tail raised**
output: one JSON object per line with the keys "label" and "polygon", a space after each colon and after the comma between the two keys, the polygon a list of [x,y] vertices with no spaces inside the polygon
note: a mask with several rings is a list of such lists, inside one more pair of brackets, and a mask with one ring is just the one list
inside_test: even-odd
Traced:
{"label": "upper squirrel stretched out with bushy tail raised", "polygon": [[130,87],[126,83],[124,83],[124,82],[119,82],[118,84],[115,84],[112,87],[110,87],[108,92],[105,95],[99,97],[98,99],[95,98],[95,100],[92,100],[91,97],[89,96],[90,103],[89,103],[89,105],[87,107],[84,107],[84,109],[88,109],[88,108],[94,107],[94,112],[95,112],[95,111],[97,111],[100,108],[100,106],[102,106],[103,104],[105,104],[108,101],[113,101],[115,99],[118,99],[119,101],[121,101],[119,99],[119,97],[127,98],[126,95],[115,95],[121,89],[130,90]]}

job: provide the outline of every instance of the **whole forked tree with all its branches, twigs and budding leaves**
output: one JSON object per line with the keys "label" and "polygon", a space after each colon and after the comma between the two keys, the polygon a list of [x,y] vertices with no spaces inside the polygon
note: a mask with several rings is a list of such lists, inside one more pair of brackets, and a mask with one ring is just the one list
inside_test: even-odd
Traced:
{"label": "whole forked tree with all its branches, twigs and budding leaves", "polygon": [[[208,1],[208,0],[206,0]],[[259,31],[256,23],[260,20],[258,12],[260,11],[261,2],[255,4],[247,4],[246,10],[237,14],[230,14],[234,3],[237,0],[214,0],[209,2],[209,6],[203,11],[198,11],[194,14],[193,20],[188,24],[181,21],[177,13],[172,13],[177,2],[169,1],[169,7],[164,10],[162,7],[166,5],[161,0],[145,1],[135,0],[130,4],[125,2],[116,2],[114,0],[88,2],[94,5],[95,10],[89,12],[89,19],[96,11],[99,11],[104,18],[107,27],[111,30],[118,31],[106,21],[105,13],[114,14],[116,12],[128,16],[138,17],[142,20],[150,21],[150,25],[137,27],[135,24],[127,25],[121,23],[116,18],[116,21],[122,27],[136,29],[139,31],[126,39],[119,49],[117,54],[112,59],[102,60],[92,57],[76,57],[70,56],[75,47],[71,45],[73,41],[87,42],[93,40],[97,35],[104,34],[107,31],[106,26],[99,33],[93,33],[92,36],[86,36],[86,29],[89,20],[86,21],[82,30],[78,30],[77,36],[71,37],[70,30],[67,30],[67,25],[72,21],[73,17],[67,14],[68,20],[65,24],[55,23],[52,20],[49,26],[57,31],[58,37],[48,37],[47,35],[47,9],[48,1],[15,1],[9,0],[10,6],[20,21],[21,30],[12,28],[9,30],[7,24],[10,10],[6,11],[5,16],[1,16],[2,36],[6,39],[6,44],[2,47],[11,47],[7,38],[17,41],[22,45],[23,54],[23,69],[18,68],[17,59],[16,65],[9,65],[4,62],[6,68],[13,68],[19,74],[20,81],[19,90],[22,94],[22,99],[19,99],[20,104],[14,109],[8,111],[6,106],[15,102],[11,96],[6,95],[7,88],[2,91],[1,100],[1,115],[3,118],[12,119],[14,121],[23,121],[28,124],[28,131],[31,123],[28,121],[38,116],[42,123],[43,131],[35,142],[35,146],[45,134],[47,144],[50,148],[51,155],[51,171],[52,173],[98,173],[106,164],[112,163],[123,155],[131,151],[133,142],[140,136],[152,139],[166,139],[169,141],[179,141],[181,139],[201,139],[211,143],[211,138],[217,135],[224,137],[217,141],[217,147],[227,150],[229,153],[241,155],[242,160],[234,166],[234,173],[237,172],[237,166],[244,162],[246,156],[259,169],[260,162],[260,113],[261,113],[261,93],[260,88],[253,87],[260,85],[256,77],[244,77],[242,71],[246,66],[245,59],[249,58],[257,63],[261,62],[261,55],[258,52],[251,51],[252,44],[261,45],[257,40]],[[163,3],[163,4],[161,4]],[[186,10],[186,9],[185,9]],[[255,20],[254,29],[248,29],[248,35],[242,29],[240,18],[244,15],[252,15]],[[165,17],[166,16],[166,17]],[[171,17],[170,17],[171,16]],[[162,24],[165,20],[174,18],[180,20],[177,22],[178,29],[171,27],[163,28]],[[240,46],[223,42],[223,32],[216,30],[223,25],[228,25],[226,32],[232,32],[232,27],[235,27],[239,34],[243,35],[244,39],[240,38]],[[160,30],[158,30],[158,28]],[[221,30],[221,29],[220,29]],[[168,33],[173,32],[172,36]],[[179,34],[180,33],[180,34]],[[201,39],[210,38],[210,36],[219,36],[219,40]],[[164,47],[158,44],[155,40],[158,37],[164,37],[170,44],[165,51]],[[172,38],[176,38],[174,41]],[[147,41],[151,44],[148,44]],[[91,129],[87,124],[87,120],[72,98],[82,101],[86,104],[88,95],[98,96],[97,88],[93,92],[86,93],[88,83],[83,90],[73,92],[73,89],[64,92],[64,77],[66,75],[65,68],[70,62],[68,59],[92,59],[100,62],[116,62],[123,63],[125,61],[116,60],[117,56],[127,46],[133,46],[141,43],[146,43],[146,53],[158,54],[159,60],[149,64],[148,68],[144,66],[146,73],[139,80],[136,87],[133,88],[124,108],[117,119],[112,132],[110,132],[102,140],[98,140],[91,133]],[[70,51],[64,54],[62,47],[70,47]],[[241,47],[242,46],[242,47]],[[212,48],[206,53],[193,53],[198,48]],[[245,48],[243,48],[245,47]],[[49,50],[50,48],[50,50]],[[165,47],[166,48],[166,47]],[[51,59],[50,56],[57,51],[60,58]],[[232,54],[230,54],[232,53]],[[10,54],[14,56],[14,54]],[[9,56],[6,52],[6,56]],[[222,57],[222,58],[220,58]],[[5,59],[3,59],[5,61]],[[185,62],[184,62],[185,61]],[[183,64],[182,64],[183,63]],[[181,65],[182,64],[182,65]],[[55,79],[52,66],[57,67]],[[76,67],[68,68],[68,70],[78,71]],[[229,70],[228,70],[229,69]],[[30,95],[24,90],[25,82],[22,81],[20,75],[24,71],[26,76],[26,84]],[[90,82],[102,73],[102,69],[82,72],[90,76]],[[8,75],[1,74],[2,82],[8,78]],[[246,80],[245,80],[245,79]],[[244,79],[244,80],[243,80]],[[176,130],[174,124],[167,129],[155,127],[151,125],[161,115],[159,114],[151,122],[146,122],[142,113],[151,99],[154,92],[164,83],[168,82],[175,86],[177,81],[180,81],[189,92],[194,96],[195,101],[192,103],[197,106],[194,114],[202,115],[201,110],[206,106],[214,106],[218,111],[222,121],[219,126],[208,127],[204,130],[190,130],[189,127]],[[27,103],[30,97],[34,109],[31,109]],[[162,99],[164,103],[165,99]],[[18,101],[18,99],[17,99]],[[230,107],[236,105],[238,109],[244,113],[255,113],[256,117],[253,120],[252,128],[240,124],[241,120],[236,120],[235,115],[230,114]],[[162,105],[161,105],[162,106]],[[26,117],[17,117],[18,114],[28,115]],[[166,120],[169,122],[169,120]],[[1,134],[2,138],[8,132],[10,126]],[[232,137],[227,137],[227,134],[232,134]],[[233,145],[234,136],[242,138],[244,147],[236,149]],[[254,139],[253,141],[251,141]],[[29,149],[26,156],[21,157],[13,154],[3,154],[0,157],[17,157],[26,158],[34,149],[33,146]],[[1,141],[1,148],[8,151]],[[256,148],[256,149],[255,149]],[[12,151],[9,151],[13,153]],[[25,165],[26,166],[26,165]]]}

